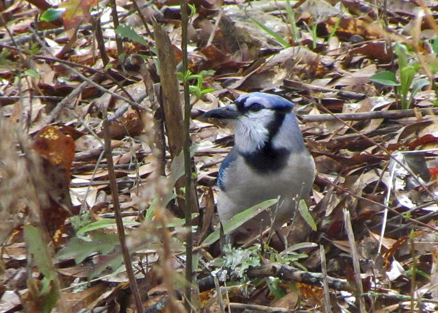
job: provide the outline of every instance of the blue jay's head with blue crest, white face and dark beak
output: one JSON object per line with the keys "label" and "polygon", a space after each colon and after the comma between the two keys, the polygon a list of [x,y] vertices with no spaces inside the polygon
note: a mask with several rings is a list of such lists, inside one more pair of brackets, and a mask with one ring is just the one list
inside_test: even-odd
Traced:
{"label": "blue jay's head with blue crest, white face and dark beak", "polygon": [[233,104],[205,112],[205,116],[229,121],[235,129],[235,147],[240,153],[270,149],[302,149],[302,135],[287,99],[264,92],[238,97]]}

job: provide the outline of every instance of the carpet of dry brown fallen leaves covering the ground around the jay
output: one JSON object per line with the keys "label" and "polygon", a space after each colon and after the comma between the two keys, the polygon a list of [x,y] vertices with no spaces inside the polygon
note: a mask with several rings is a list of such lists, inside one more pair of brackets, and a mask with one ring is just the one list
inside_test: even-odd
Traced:
{"label": "carpet of dry brown fallen leaves covering the ground around the jay", "polygon": [[[1,8],[1,312],[49,312],[53,299],[68,312],[133,310],[111,222],[103,109],[110,115],[116,196],[144,308],[166,306],[169,279],[183,290],[187,229],[175,201],[181,190],[178,197],[172,192],[183,169],[171,162],[174,151],[157,145],[170,145],[160,134],[172,126],[160,126],[164,114],[155,101],[165,82],[152,36],[157,20],[181,62],[181,12],[172,1],[139,2],[142,16],[133,3],[116,3],[123,25],[116,30],[105,3],[65,1],[59,6],[64,14],[49,22],[38,14],[58,7],[46,1]],[[209,71],[190,82],[199,89],[192,88],[198,97],[192,97],[190,125],[200,203],[193,214],[199,226],[193,310],[435,312],[438,2],[389,1],[385,8],[346,0],[192,4],[189,68],[194,75]],[[116,34],[124,38],[124,53],[140,58],[118,58]],[[98,35],[104,50],[96,47]],[[214,91],[201,92],[209,88]],[[232,132],[202,113],[260,90],[296,103],[318,170],[307,202],[317,230],[296,216],[281,231],[289,246],[315,245],[282,254],[274,238],[272,247],[248,238],[244,250],[231,252],[236,265],[209,237],[218,229],[214,184]],[[161,210],[166,205],[170,210]],[[358,273],[344,209],[366,308],[354,291]],[[80,231],[84,227],[90,230]],[[218,271],[227,281],[221,288],[210,280]],[[330,280],[324,290],[324,279],[339,279],[344,288]],[[324,292],[337,296],[331,308]]]}

